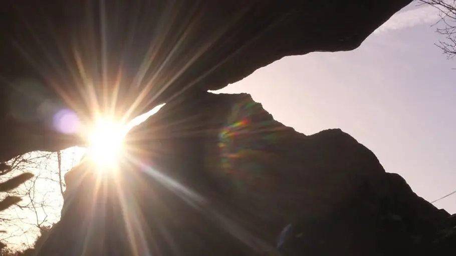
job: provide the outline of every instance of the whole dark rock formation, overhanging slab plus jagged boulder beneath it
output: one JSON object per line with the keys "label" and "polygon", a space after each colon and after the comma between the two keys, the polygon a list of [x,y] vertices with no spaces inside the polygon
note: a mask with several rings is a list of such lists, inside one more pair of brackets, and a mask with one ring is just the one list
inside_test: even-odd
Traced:
{"label": "whole dark rock formation, overhanging slab plus jagged boulder beneath it", "polygon": [[274,254],[289,223],[288,255],[454,254],[454,216],[348,134],[306,136],[245,94],[205,92],[287,55],[354,49],[411,0],[242,2],[2,1],[0,161],[82,143],[51,123],[64,105],[90,120],[88,86],[100,102],[118,88],[119,115],[167,102],[131,131],[121,170],[67,175],[39,254]]}

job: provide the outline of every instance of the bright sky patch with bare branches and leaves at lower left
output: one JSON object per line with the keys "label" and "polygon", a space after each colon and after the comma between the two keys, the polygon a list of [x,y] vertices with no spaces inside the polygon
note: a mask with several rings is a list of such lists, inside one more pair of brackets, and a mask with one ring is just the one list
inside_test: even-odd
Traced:
{"label": "bright sky patch with bare branches and leaves at lower left", "polygon": [[32,255],[26,252],[34,249],[35,239],[60,217],[63,175],[78,155],[71,149],[34,151],[0,163],[0,256]]}

